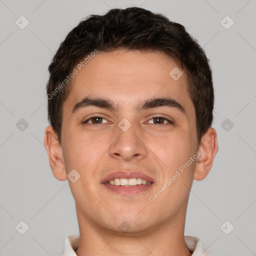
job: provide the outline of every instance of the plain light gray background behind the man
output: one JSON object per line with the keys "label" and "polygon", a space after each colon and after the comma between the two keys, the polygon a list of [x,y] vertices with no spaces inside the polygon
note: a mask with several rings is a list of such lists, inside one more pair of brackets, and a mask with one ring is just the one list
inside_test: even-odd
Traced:
{"label": "plain light gray background behind the man", "polygon": [[[256,255],[255,0],[0,0],[0,255],[58,255],[78,233],[68,182],[54,178],[43,145],[47,67],[83,17],[128,6],[183,24],[210,59],[219,150],[208,176],[193,183],[185,234],[213,255]],[[24,29],[15,24],[21,15]],[[229,29],[220,23],[226,15]],[[220,228],[226,220],[229,234]]]}

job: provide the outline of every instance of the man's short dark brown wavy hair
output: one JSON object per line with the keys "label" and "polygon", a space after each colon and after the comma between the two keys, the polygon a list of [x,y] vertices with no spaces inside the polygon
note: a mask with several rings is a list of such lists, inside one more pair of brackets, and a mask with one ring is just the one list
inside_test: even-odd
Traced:
{"label": "man's short dark brown wavy hair", "polygon": [[68,75],[95,49],[109,52],[119,48],[163,52],[185,71],[187,90],[195,109],[199,144],[213,119],[214,91],[209,61],[197,40],[183,25],[170,21],[163,14],[139,7],[114,8],[104,15],[90,15],[82,19],[61,42],[48,67],[46,86],[48,121],[59,142],[63,103],[72,81]]}

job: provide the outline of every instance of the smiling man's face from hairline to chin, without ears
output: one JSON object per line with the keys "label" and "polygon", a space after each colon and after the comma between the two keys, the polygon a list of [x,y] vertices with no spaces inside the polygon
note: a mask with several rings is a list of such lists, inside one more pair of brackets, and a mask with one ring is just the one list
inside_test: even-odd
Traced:
{"label": "smiling man's face from hairline to chin, without ears", "polygon": [[[174,67],[161,52],[121,49],[99,52],[74,76],[63,106],[61,153],[66,173],[80,175],[68,182],[85,222],[145,232],[184,216],[196,161],[183,172],[180,166],[198,145],[185,72],[173,79]],[[125,177],[136,179],[123,184],[150,183],[115,185]]]}

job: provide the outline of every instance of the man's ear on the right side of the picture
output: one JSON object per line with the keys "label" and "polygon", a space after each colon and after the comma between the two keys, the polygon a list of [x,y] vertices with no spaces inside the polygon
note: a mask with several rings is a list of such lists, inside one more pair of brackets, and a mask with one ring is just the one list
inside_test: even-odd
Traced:
{"label": "man's ear on the right side of the picture", "polygon": [[207,131],[203,134],[199,151],[200,156],[197,158],[194,172],[195,180],[204,179],[213,163],[213,159],[217,153],[218,144],[217,144],[217,134],[216,130],[212,127],[209,127]]}

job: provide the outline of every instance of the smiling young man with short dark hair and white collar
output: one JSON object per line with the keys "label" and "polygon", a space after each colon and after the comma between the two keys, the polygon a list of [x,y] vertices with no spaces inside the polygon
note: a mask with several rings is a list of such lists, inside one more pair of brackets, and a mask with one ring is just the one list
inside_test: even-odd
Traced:
{"label": "smiling young man with short dark hair and white collar", "polygon": [[184,236],[217,152],[211,69],[185,28],[137,7],[91,15],[48,70],[44,145],[79,225],[62,255],[210,255]]}

